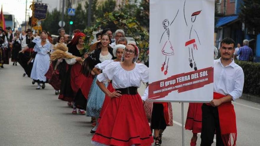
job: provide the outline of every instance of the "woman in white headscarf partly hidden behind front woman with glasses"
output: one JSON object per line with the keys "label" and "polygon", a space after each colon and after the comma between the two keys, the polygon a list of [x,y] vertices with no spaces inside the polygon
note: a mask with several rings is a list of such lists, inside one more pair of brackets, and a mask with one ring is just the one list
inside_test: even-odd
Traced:
{"label": "woman in white headscarf partly hidden behind front woman with glasses", "polygon": [[[103,61],[102,63],[98,63],[97,65],[95,65],[95,68],[93,68],[93,72],[94,72],[96,75],[99,75],[100,72],[101,72],[100,70],[105,69],[105,67],[106,67],[107,65],[109,65],[110,63],[121,61],[125,47],[126,47],[126,46],[125,46],[125,45],[122,45],[122,44],[116,45],[115,48],[113,49],[113,54],[114,54],[114,56],[116,56],[116,59],[114,59],[114,60],[105,60],[105,61]],[[108,91],[110,91],[110,92],[114,92],[114,91],[115,91],[115,89],[114,89],[113,86],[112,86],[111,81],[110,81],[110,83],[108,84],[108,87],[107,87],[107,88],[108,88]],[[98,121],[96,122],[95,127],[90,131],[91,134],[95,133],[95,131],[97,130],[97,128],[98,128],[98,123],[100,122],[100,118],[102,117],[102,114],[104,113],[104,111],[105,111],[105,109],[106,109],[106,107],[107,107],[109,101],[110,101],[110,97],[106,94],[106,95],[105,95],[105,100],[104,100],[104,103],[103,103],[103,106],[102,106],[102,109],[101,109],[101,111],[100,111],[99,119],[98,119]]]}

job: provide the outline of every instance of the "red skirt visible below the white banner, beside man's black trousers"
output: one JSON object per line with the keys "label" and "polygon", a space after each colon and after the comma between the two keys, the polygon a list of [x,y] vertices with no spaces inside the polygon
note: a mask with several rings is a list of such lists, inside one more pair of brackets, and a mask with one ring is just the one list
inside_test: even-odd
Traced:
{"label": "red skirt visible below the white banner, beside man's black trousers", "polygon": [[202,103],[189,103],[185,129],[193,133],[201,133],[202,127]]}

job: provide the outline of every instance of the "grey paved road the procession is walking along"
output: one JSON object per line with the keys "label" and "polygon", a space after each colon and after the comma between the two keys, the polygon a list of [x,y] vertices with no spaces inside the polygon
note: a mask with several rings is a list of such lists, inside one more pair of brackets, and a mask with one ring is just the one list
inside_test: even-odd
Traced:
{"label": "grey paved road the procession is walking along", "polygon": [[[72,109],[58,100],[50,85],[35,90],[32,80],[22,74],[19,65],[0,70],[0,146],[90,146],[90,118],[71,114]],[[143,90],[144,86],[139,92]],[[184,103],[184,117],[188,105]],[[237,146],[258,146],[260,104],[239,99],[234,106]],[[181,146],[181,104],[173,103],[173,114],[174,126],[165,130],[163,146]],[[191,135],[185,130],[186,146]]]}

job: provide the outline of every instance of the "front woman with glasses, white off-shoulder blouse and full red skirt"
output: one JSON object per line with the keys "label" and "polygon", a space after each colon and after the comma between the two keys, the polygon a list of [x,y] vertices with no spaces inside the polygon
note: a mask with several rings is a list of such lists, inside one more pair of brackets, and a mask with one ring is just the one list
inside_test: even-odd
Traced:
{"label": "front woman with glasses, white off-shoulder blouse and full red skirt", "polygon": [[[144,112],[142,99],[137,93],[141,82],[148,82],[148,68],[135,63],[138,48],[129,44],[124,50],[122,62],[113,62],[98,75],[97,84],[111,97],[100,125],[92,137],[94,145],[113,146],[150,146],[152,133]],[[104,83],[112,80],[116,91],[111,93]]]}

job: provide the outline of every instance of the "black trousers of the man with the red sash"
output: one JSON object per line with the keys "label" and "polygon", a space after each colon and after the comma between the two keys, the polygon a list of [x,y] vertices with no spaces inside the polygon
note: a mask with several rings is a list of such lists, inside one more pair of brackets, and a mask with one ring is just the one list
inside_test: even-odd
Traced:
{"label": "black trousers of the man with the red sash", "polygon": [[217,107],[202,105],[201,146],[211,146],[216,132],[216,146],[224,146],[220,133]]}

